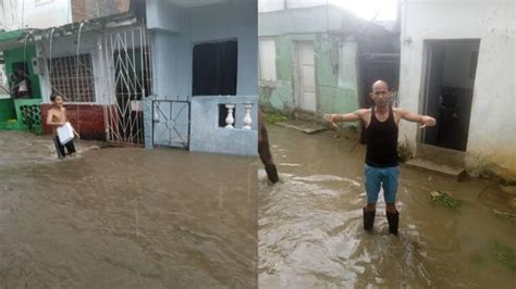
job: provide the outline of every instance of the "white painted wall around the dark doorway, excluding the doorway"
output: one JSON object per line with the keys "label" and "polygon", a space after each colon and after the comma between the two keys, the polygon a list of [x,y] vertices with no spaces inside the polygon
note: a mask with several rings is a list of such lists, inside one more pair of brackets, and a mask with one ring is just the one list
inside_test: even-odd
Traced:
{"label": "white painted wall around the dark doorway, excluding the doorway", "polygon": [[[513,0],[405,0],[402,3],[401,105],[420,112],[425,39],[477,38],[480,51],[469,124],[469,166],[516,172],[515,3]],[[401,140],[415,149],[415,124]]]}

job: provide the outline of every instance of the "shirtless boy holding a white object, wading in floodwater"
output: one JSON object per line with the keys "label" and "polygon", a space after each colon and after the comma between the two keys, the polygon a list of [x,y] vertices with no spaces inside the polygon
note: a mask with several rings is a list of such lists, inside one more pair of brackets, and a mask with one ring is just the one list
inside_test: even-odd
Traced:
{"label": "shirtless boy holding a white object, wading in floodwater", "polygon": [[[63,97],[60,95],[52,95],[50,97],[50,100],[52,101],[52,109],[48,111],[47,125],[52,126],[53,142],[56,144],[58,158],[60,160],[64,159],[65,156],[64,148],[66,148],[66,151],[70,156],[74,156],[75,146],[73,143],[73,139],[63,144],[59,140],[59,136],[57,131],[58,127],[63,126],[67,122],[66,109],[63,106]],[[79,137],[77,131],[75,131],[75,129],[73,130],[73,133],[77,138]]]}

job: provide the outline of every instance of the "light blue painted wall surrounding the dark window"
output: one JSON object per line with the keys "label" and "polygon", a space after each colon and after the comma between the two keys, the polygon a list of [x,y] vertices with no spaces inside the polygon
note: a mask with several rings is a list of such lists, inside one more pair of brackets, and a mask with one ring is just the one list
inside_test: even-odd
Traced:
{"label": "light blue painted wall surrounding the dark window", "polygon": [[[147,2],[148,28],[151,32],[153,98],[185,100],[192,96],[192,62],[193,47],[197,43],[236,39],[238,43],[237,96],[250,96],[246,101],[258,102],[258,11],[257,0],[228,0],[198,8],[184,9],[165,0],[149,0]],[[225,98],[222,98],[225,99]],[[234,135],[243,134],[237,141],[243,149],[242,155],[257,155],[257,130],[221,133],[210,117],[204,116],[205,111],[217,113],[221,98],[195,97],[192,101],[191,117],[191,150],[232,153],[225,143],[230,139],[238,139]],[[205,102],[205,103],[204,103]],[[210,106],[212,105],[212,108]],[[243,109],[242,109],[243,112]],[[214,114],[213,114],[214,115]],[[188,120],[186,115],[177,122]],[[251,118],[257,120],[256,109]],[[242,122],[236,117],[236,125]],[[206,123],[210,121],[212,123]],[[164,123],[164,120],[159,120]],[[152,124],[146,123],[146,131],[151,131]],[[194,129],[194,127],[196,129]],[[224,130],[225,131],[225,130]],[[225,134],[230,138],[216,137]],[[153,139],[151,137],[147,140]],[[153,139],[156,141],[156,139]],[[247,142],[246,142],[247,141]],[[210,142],[205,146],[199,142]],[[149,143],[146,143],[150,147]],[[244,148],[245,147],[245,148]],[[217,151],[216,148],[220,148]],[[234,148],[235,149],[235,148]]]}

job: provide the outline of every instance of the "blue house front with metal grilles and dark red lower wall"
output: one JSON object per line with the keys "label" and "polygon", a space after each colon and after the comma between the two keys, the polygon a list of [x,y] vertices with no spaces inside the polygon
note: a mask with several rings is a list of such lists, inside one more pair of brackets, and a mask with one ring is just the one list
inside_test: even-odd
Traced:
{"label": "blue house front with metal grilles and dark red lower wall", "polygon": [[113,5],[71,1],[72,23],[0,41],[34,47],[40,120],[60,93],[85,139],[257,155],[256,0]]}

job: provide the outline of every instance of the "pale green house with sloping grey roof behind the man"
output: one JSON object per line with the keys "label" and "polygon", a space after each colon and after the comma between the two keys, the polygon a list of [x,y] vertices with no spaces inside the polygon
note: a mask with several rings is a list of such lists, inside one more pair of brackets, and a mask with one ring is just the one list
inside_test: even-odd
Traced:
{"label": "pale green house with sloping grey roof behind the man", "polygon": [[259,26],[260,104],[266,110],[320,118],[366,106],[374,79],[393,79],[397,86],[398,59],[385,68],[371,58],[398,56],[396,36],[340,7],[262,12]]}

